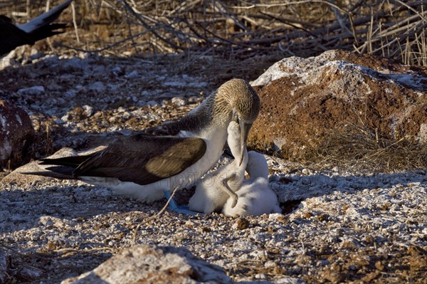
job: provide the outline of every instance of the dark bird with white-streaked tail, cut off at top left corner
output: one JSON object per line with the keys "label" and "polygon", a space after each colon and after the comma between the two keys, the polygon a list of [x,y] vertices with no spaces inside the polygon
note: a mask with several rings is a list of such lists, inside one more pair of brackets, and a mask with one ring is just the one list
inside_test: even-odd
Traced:
{"label": "dark bird with white-streaked tail, cut off at top left corner", "polygon": [[61,33],[56,30],[65,28],[65,24],[51,23],[70,5],[71,1],[73,0],[64,1],[46,13],[21,25],[16,25],[8,17],[0,15],[0,56],[4,56],[18,46],[34,44],[43,38]]}

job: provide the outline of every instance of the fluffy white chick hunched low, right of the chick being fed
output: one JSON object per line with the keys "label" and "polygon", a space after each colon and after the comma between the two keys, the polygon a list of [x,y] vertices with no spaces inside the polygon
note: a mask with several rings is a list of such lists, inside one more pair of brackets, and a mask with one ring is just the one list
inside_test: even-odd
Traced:
{"label": "fluffy white chick hunched low, right of the chick being fed", "polygon": [[228,216],[258,216],[270,213],[282,213],[278,204],[278,196],[268,187],[268,165],[263,154],[257,152],[248,153],[248,165],[246,179],[241,189],[236,191],[235,199],[229,198],[223,206],[223,214]]}

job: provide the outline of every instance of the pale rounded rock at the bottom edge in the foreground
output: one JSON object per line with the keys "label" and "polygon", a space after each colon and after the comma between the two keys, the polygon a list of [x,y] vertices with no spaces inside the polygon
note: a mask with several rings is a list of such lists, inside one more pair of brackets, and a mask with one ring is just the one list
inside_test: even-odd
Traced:
{"label": "pale rounded rock at the bottom edge in the foreground", "polygon": [[139,245],[62,284],[232,283],[223,269],[193,256],[186,248]]}

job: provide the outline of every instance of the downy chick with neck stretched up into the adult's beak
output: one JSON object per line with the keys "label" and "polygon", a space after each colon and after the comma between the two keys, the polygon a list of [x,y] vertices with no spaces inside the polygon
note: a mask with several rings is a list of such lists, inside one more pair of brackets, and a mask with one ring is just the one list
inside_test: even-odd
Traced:
{"label": "downy chick with neck stretched up into the adult's beak", "polygon": [[[244,149],[241,157],[241,131],[237,122],[231,121],[227,132],[227,142],[234,160],[199,179],[196,192],[189,201],[191,211],[211,214],[214,211],[220,212],[228,197],[237,201],[234,191],[241,188],[245,178],[248,151]],[[240,165],[239,161],[242,161]]]}

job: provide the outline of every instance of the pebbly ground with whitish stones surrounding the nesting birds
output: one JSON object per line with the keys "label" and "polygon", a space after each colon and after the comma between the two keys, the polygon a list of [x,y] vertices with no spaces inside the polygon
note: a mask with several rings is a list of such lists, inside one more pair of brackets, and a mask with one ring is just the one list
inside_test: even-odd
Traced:
{"label": "pebbly ground with whitish stones surrounding the nesting birds", "polygon": [[[209,67],[212,58],[198,62]],[[223,83],[221,76],[176,67],[186,63],[174,56],[42,56],[2,70],[0,95],[30,115],[38,159],[184,115]],[[425,283],[426,169],[320,170],[267,159],[283,214],[244,219],[167,210],[147,221],[165,201],[144,204],[100,186],[9,174],[6,167],[0,189],[6,281],[59,283],[137,243],[188,248],[236,282]],[[192,190],[177,200],[185,204]]]}

